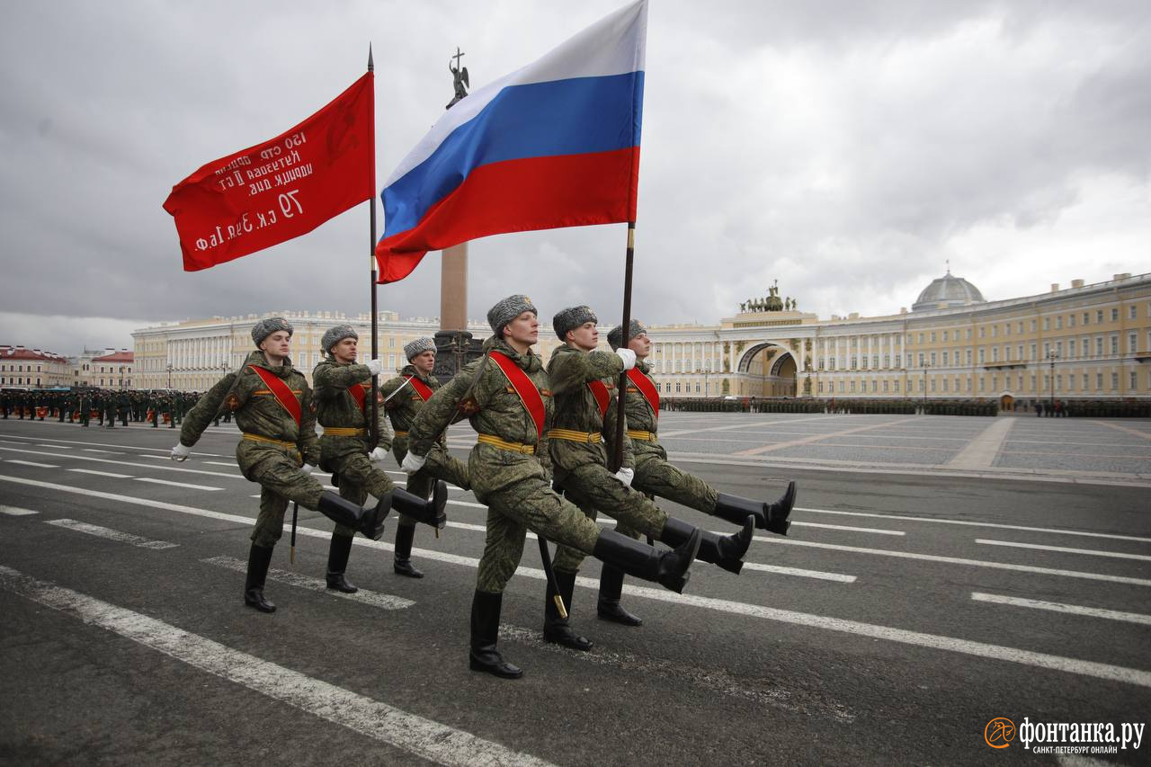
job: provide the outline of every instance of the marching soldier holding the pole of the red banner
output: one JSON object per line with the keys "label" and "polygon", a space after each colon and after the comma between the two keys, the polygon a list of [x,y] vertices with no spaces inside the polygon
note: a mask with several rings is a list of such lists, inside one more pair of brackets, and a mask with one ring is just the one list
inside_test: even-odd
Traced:
{"label": "marching soldier holding the pole of the red banner", "polygon": [[[404,521],[410,525],[425,522],[440,530],[448,522],[443,512],[448,500],[447,485],[439,483],[433,500],[427,501],[428,493],[416,496],[397,488],[379,466],[391,443],[391,430],[388,428],[383,408],[379,408],[376,424],[380,445],[374,448],[369,442],[367,424],[372,416],[372,378],[380,374],[381,363],[369,359],[365,365],[357,365],[358,342],[359,335],[350,325],[328,328],[320,341],[327,359],[312,371],[317,420],[323,427],[320,466],[331,472],[340,495],[352,503],[359,506],[369,493],[378,499],[390,496],[391,506],[403,515],[401,524]],[[379,397],[379,394],[375,396]],[[344,577],[355,536],[355,529],[336,525],[328,549],[328,588],[346,594],[358,591]]]}

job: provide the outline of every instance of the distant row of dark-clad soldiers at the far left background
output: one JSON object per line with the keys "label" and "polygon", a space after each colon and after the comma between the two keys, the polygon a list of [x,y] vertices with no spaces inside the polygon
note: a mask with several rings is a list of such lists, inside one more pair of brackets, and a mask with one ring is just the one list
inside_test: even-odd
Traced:
{"label": "distant row of dark-clad soldiers at the far left background", "polygon": [[[55,419],[87,426],[92,418],[98,425],[114,428],[116,422],[151,422],[153,427],[166,423],[170,428],[180,424],[196,401],[199,392],[138,392],[130,389],[73,389],[63,390],[0,390],[0,412],[3,418]],[[224,413],[224,420],[231,413]]]}

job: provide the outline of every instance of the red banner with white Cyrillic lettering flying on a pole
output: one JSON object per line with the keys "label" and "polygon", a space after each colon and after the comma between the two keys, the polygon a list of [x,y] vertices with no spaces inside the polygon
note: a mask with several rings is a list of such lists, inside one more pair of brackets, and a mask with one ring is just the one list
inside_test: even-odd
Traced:
{"label": "red banner with white Cyrillic lettering flying on a pole", "polygon": [[171,188],[184,271],[307,234],[375,193],[375,106],[368,71],[272,141],[208,162]]}

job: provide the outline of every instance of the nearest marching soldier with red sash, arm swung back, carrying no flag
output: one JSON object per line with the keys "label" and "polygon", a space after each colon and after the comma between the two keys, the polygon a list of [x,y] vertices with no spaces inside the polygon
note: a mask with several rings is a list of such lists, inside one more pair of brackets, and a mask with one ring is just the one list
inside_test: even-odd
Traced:
{"label": "nearest marching soldier with red sash, arm swung back, carrying no flag", "polygon": [[416,416],[401,468],[410,474],[422,469],[432,446],[460,412],[479,432],[467,476],[475,498],[488,507],[488,518],[472,599],[468,663],[473,670],[516,678],[523,671],[503,660],[496,639],[503,590],[523,556],[528,530],[676,592],[687,583],[700,536],[660,552],[613,530],[600,530],[559,498],[549,485],[543,440],[550,385],[543,363],[531,351],[539,336],[535,306],[527,296],[510,296],[488,311],[488,324],[495,334],[483,343],[483,357],[441,387]]}

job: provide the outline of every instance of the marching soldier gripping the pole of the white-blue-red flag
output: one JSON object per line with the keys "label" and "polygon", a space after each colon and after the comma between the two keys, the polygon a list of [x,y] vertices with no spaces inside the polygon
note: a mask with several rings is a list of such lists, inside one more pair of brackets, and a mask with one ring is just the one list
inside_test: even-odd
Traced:
{"label": "marching soldier gripping the pole of the white-blue-red flag", "polygon": [[[678,546],[696,529],[669,517],[651,499],[633,487],[635,461],[631,440],[623,442],[623,463],[618,471],[612,473],[608,469],[609,456],[615,455],[616,447],[616,397],[612,395],[617,390],[619,374],[635,364],[635,354],[628,349],[596,351],[600,341],[597,322],[599,318],[588,306],[572,306],[552,318],[556,335],[564,342],[551,354],[548,363],[548,378],[555,397],[555,416],[548,441],[555,465],[556,489],[592,519],[595,519],[596,510],[615,517],[620,523],[617,532],[620,529],[639,531],[669,546]],[[755,530],[747,514],[742,523],[744,530],[732,536],[700,531],[699,559],[738,574],[744,567],[742,557]],[[556,553],[556,584],[565,603],[571,603],[576,574],[582,561],[584,554],[570,547],[562,546]],[[573,650],[590,650],[592,643],[572,631],[567,618],[561,617],[554,593],[549,588],[543,638]]]}

